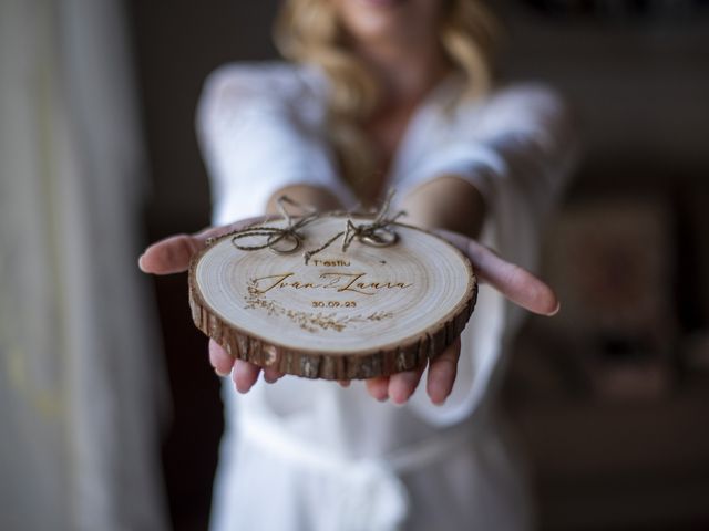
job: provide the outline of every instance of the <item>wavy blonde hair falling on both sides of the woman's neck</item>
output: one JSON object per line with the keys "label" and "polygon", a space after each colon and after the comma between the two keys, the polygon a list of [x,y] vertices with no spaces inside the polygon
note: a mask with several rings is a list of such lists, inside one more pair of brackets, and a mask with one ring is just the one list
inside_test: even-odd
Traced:
{"label": "wavy blonde hair falling on both sides of the woman's neck", "polygon": [[[497,23],[481,0],[448,0],[439,35],[446,59],[464,76],[461,98],[486,94]],[[361,124],[377,110],[379,86],[345,45],[331,0],[286,0],[276,20],[276,46],[291,61],[319,65],[330,82],[327,129],[340,170],[357,190],[376,173]]]}

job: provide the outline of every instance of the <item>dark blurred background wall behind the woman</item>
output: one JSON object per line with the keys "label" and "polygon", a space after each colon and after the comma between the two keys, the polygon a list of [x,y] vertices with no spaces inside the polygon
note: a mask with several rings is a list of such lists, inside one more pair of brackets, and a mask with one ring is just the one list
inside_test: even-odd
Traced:
{"label": "dark blurred background wall behind the woman", "polygon": [[[277,2],[125,0],[153,179],[152,239],[209,221],[194,134],[205,76],[275,56]],[[548,530],[709,529],[709,9],[697,0],[504,0],[501,72],[577,110],[586,157],[552,223],[564,311],[531,320],[505,404]],[[266,168],[265,168],[266,170]],[[204,529],[222,429],[183,277],[155,280],[178,530]]]}

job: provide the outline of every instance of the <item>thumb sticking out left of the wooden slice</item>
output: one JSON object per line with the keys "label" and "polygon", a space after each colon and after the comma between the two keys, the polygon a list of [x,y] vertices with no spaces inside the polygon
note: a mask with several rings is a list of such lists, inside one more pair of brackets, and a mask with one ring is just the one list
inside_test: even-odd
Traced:
{"label": "thumb sticking out left of the wooden slice", "polygon": [[145,249],[138,258],[138,267],[142,271],[153,274],[181,273],[187,270],[192,257],[206,247],[209,238],[217,238],[263,219],[249,218],[224,227],[205,229],[196,235],[171,236]]}

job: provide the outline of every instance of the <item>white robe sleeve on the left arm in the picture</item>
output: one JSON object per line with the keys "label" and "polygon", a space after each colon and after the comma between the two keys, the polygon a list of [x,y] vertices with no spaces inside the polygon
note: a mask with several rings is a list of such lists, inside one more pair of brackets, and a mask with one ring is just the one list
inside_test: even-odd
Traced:
{"label": "white robe sleeve on the left arm in the picture", "polygon": [[323,187],[345,199],[310,88],[286,65],[230,65],[208,77],[197,135],[215,223],[264,214],[271,195],[290,185]]}

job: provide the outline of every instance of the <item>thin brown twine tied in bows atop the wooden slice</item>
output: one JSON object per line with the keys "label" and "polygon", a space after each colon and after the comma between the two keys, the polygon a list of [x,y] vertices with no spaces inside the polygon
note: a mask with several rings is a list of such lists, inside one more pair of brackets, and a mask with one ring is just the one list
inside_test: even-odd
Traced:
{"label": "thin brown twine tied in bows atop the wooden slice", "polygon": [[[234,244],[234,247],[236,247],[242,251],[258,251],[261,249],[269,248],[270,250],[279,254],[287,254],[296,251],[300,247],[301,242],[306,239],[302,233],[302,229],[307,227],[309,223],[327,215],[336,215],[336,216],[346,215],[346,216],[349,216],[349,218],[345,226],[345,230],[335,235],[332,238],[330,238],[319,248],[312,249],[304,253],[306,266],[308,264],[309,260],[314,256],[318,254],[319,252],[322,252],[340,238],[342,238],[342,247],[341,247],[342,252],[347,252],[347,250],[350,248],[354,239],[371,247],[393,246],[399,240],[399,236],[397,235],[393,227],[397,225],[397,220],[401,216],[405,215],[403,210],[400,210],[395,215],[389,216],[389,207],[391,206],[391,200],[393,196],[394,196],[394,191],[393,190],[389,191],[384,202],[382,204],[381,208],[377,212],[377,216],[374,217],[374,219],[371,222],[366,221],[360,223],[357,223],[356,221],[353,221],[352,217],[368,216],[368,214],[351,212],[351,211],[350,212],[341,212],[341,211],[318,212],[310,207],[304,207],[297,201],[294,201],[292,199],[290,199],[288,196],[281,196],[277,200],[277,207],[281,216],[285,218],[287,222],[286,227],[266,227],[266,226],[247,227],[246,229],[237,230],[232,235],[232,243]],[[306,210],[307,214],[302,217],[297,218],[296,220],[296,218],[290,216],[286,210],[286,205],[290,205],[301,210]],[[257,246],[243,246],[236,242],[236,240],[238,239],[254,237],[254,236],[267,237],[266,242]],[[294,247],[288,250],[278,249],[276,247],[278,242],[285,241],[285,240],[292,240],[295,242]]]}

